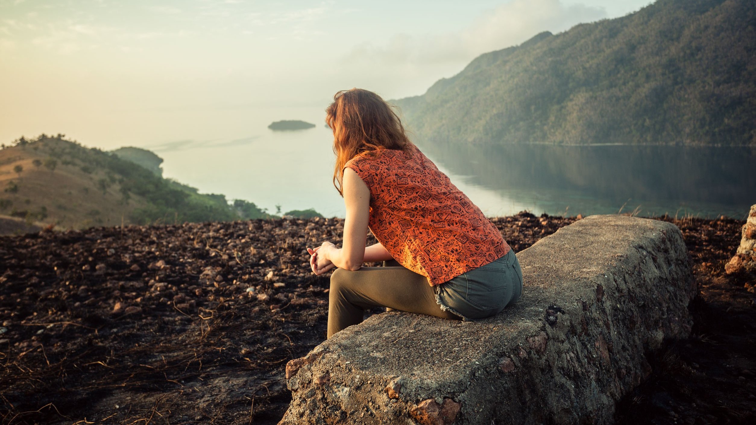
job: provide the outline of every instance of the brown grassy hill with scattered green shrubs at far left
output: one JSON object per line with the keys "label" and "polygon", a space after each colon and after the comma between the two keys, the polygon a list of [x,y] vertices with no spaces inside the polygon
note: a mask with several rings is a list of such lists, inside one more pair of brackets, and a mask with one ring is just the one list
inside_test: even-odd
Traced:
{"label": "brown grassy hill with scattered green shrubs at far left", "polygon": [[2,148],[0,190],[6,228],[17,224],[8,218],[24,219],[27,227],[88,228],[272,217],[254,203],[234,200],[229,205],[222,194],[200,194],[63,135],[20,138],[14,146]]}

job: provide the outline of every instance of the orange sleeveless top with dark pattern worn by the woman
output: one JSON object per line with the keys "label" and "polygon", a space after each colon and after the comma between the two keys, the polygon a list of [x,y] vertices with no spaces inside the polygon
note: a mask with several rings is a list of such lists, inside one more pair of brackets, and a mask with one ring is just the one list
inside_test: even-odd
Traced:
{"label": "orange sleeveless top with dark pattern worn by the woman", "polygon": [[509,252],[496,226],[417,147],[360,154],[346,167],[370,189],[370,231],[431,286]]}

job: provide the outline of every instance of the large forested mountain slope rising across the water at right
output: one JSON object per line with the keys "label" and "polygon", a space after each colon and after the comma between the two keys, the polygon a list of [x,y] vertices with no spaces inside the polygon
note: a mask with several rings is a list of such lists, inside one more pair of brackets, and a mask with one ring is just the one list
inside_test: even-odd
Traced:
{"label": "large forested mountain slope rising across the water at right", "polygon": [[658,0],[482,54],[393,103],[421,144],[756,146],[756,7]]}

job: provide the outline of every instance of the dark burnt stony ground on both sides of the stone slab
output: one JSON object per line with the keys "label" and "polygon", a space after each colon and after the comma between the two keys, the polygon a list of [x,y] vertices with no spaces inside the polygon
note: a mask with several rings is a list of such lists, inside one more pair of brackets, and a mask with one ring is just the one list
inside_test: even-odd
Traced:
{"label": "dark burnt stony ground on both sides of the stone slab", "polygon": [[[617,422],[754,423],[753,277],[724,274],[743,222],[663,219],[693,260],[695,325],[651,356]],[[491,221],[519,251],[575,218]],[[0,237],[0,423],[277,423],[287,361],[326,334],[329,281],[310,273],[305,247],[339,244],[342,228],[280,219]]]}

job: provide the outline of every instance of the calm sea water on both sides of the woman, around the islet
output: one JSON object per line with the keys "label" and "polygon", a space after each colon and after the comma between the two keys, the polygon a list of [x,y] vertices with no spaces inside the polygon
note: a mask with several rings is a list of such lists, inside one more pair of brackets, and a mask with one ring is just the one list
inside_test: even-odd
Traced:
{"label": "calm sea water on both sides of the woman, around the islet", "polygon": [[[201,192],[249,200],[271,213],[280,206],[282,213],[314,208],[324,216],[344,216],[343,200],[331,182],[332,136],[322,110],[238,114],[244,121],[232,132],[235,137],[145,147],[163,157],[166,177]],[[267,129],[280,119],[302,119],[316,127]],[[621,210],[640,216],[742,218],[756,203],[753,148],[418,145],[487,216]]]}

